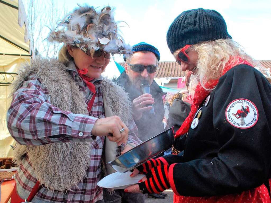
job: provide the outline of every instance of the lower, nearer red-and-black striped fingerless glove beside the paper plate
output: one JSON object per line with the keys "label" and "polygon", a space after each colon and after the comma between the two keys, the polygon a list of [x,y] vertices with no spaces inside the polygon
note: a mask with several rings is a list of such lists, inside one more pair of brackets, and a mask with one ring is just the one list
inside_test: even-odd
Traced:
{"label": "lower, nearer red-and-black striped fingerless glove beside the paper plate", "polygon": [[142,193],[160,193],[170,188],[169,165],[153,167],[147,174],[147,180],[138,183]]}

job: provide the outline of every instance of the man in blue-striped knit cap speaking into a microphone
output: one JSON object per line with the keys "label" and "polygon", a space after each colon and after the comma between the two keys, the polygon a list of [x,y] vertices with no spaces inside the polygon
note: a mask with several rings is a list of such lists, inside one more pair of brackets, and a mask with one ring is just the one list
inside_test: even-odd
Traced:
{"label": "man in blue-striped knit cap speaking into a microphone", "polygon": [[[140,42],[132,47],[133,55],[124,56],[125,71],[117,79],[129,93],[133,102],[132,110],[135,124],[138,128],[138,138],[146,141],[149,138],[164,131],[162,123],[164,118],[164,104],[162,88],[153,80],[157,65],[160,60],[160,53],[156,47]],[[144,81],[150,85],[150,94],[143,94],[140,86]],[[153,106],[152,106],[153,105]],[[150,113],[154,109],[154,114]],[[149,194],[149,198],[164,199],[166,194]]]}

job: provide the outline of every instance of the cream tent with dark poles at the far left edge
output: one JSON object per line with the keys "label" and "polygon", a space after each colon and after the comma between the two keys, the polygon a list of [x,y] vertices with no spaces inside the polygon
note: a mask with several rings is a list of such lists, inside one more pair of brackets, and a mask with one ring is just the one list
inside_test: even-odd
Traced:
{"label": "cream tent with dark poles at the far left edge", "polygon": [[10,105],[8,85],[21,63],[30,60],[27,17],[21,0],[0,0],[0,157],[12,156],[13,138],[7,130],[6,114]]}

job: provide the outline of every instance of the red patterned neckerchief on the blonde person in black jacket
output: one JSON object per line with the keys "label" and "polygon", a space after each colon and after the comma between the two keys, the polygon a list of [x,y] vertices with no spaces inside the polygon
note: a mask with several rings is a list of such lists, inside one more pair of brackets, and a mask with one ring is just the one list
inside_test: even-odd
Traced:
{"label": "red patterned neckerchief on the blonde person in black jacket", "polygon": [[[249,66],[252,66],[249,62],[241,59],[240,57],[238,57],[238,60],[236,60],[236,63],[234,63],[233,65],[226,65],[224,67],[224,70],[221,74],[221,76],[223,76],[228,70],[230,70],[232,67],[234,66],[237,66],[239,64],[247,64]],[[221,77],[220,76],[220,77]],[[218,83],[218,80],[220,78],[216,79],[216,80],[210,80],[209,82],[207,82],[207,84],[205,85],[205,87],[207,89],[213,89],[217,83]],[[190,126],[191,126],[191,123],[193,121],[193,118],[199,108],[199,105],[202,103],[202,101],[210,94],[210,91],[207,91],[206,89],[204,89],[202,86],[201,86],[201,83],[199,82],[198,85],[196,86],[196,89],[195,89],[195,94],[194,94],[194,97],[193,97],[193,104],[191,105],[191,111],[188,115],[188,117],[185,119],[185,121],[183,122],[183,124],[181,125],[181,127],[179,128],[179,130],[176,131],[176,134],[174,136],[174,138],[177,138],[177,137],[180,137],[181,135],[185,134],[188,132]]]}

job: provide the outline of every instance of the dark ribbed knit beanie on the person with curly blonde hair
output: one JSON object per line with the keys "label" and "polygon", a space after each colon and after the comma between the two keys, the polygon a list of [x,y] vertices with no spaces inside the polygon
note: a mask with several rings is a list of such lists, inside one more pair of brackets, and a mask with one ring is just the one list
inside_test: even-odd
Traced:
{"label": "dark ribbed knit beanie on the person with curly blonde hair", "polygon": [[182,12],[172,22],[167,31],[167,46],[173,53],[187,44],[228,38],[231,36],[223,17],[215,10],[198,8]]}

